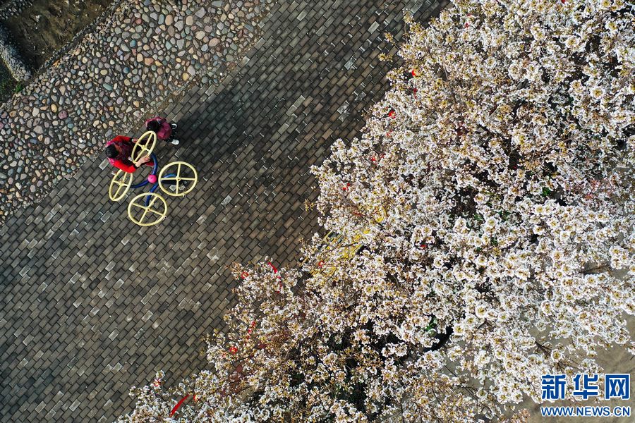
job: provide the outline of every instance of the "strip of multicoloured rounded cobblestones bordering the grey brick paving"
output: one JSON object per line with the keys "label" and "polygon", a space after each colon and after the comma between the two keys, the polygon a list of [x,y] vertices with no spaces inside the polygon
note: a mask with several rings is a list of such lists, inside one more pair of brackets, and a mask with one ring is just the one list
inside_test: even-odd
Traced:
{"label": "strip of multicoloured rounded cobblestones bordering the grey brick paving", "polygon": [[272,2],[116,4],[0,107],[0,223],[72,176],[109,137],[137,128],[196,80],[219,82],[253,47]]}

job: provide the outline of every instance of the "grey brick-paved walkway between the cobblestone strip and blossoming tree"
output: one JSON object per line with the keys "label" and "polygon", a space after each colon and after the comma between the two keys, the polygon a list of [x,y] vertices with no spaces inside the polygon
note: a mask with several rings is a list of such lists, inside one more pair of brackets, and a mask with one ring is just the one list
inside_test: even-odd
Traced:
{"label": "grey brick-paved walkway between the cobblestone strip and blossoming tree", "polygon": [[273,6],[248,58],[221,85],[167,111],[185,142],[159,160],[189,161],[201,180],[139,228],[127,200],[107,200],[105,161],[84,164],[0,228],[2,422],[108,422],[156,369],[167,381],[205,367],[200,336],[231,301],[227,266],[270,255],[294,264],[317,228],[308,174],[386,88],[377,56],[424,1],[294,1]]}

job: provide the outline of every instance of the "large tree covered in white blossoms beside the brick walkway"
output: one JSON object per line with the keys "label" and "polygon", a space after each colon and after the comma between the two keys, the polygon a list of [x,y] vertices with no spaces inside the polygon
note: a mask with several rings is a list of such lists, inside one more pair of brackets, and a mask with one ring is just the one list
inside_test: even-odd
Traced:
{"label": "large tree covered in white blossoms beside the brick walkway", "polygon": [[122,421],[491,420],[635,353],[633,4],[455,0],[409,25],[360,137],[313,168],[331,235],[298,269],[236,265],[211,369]]}

